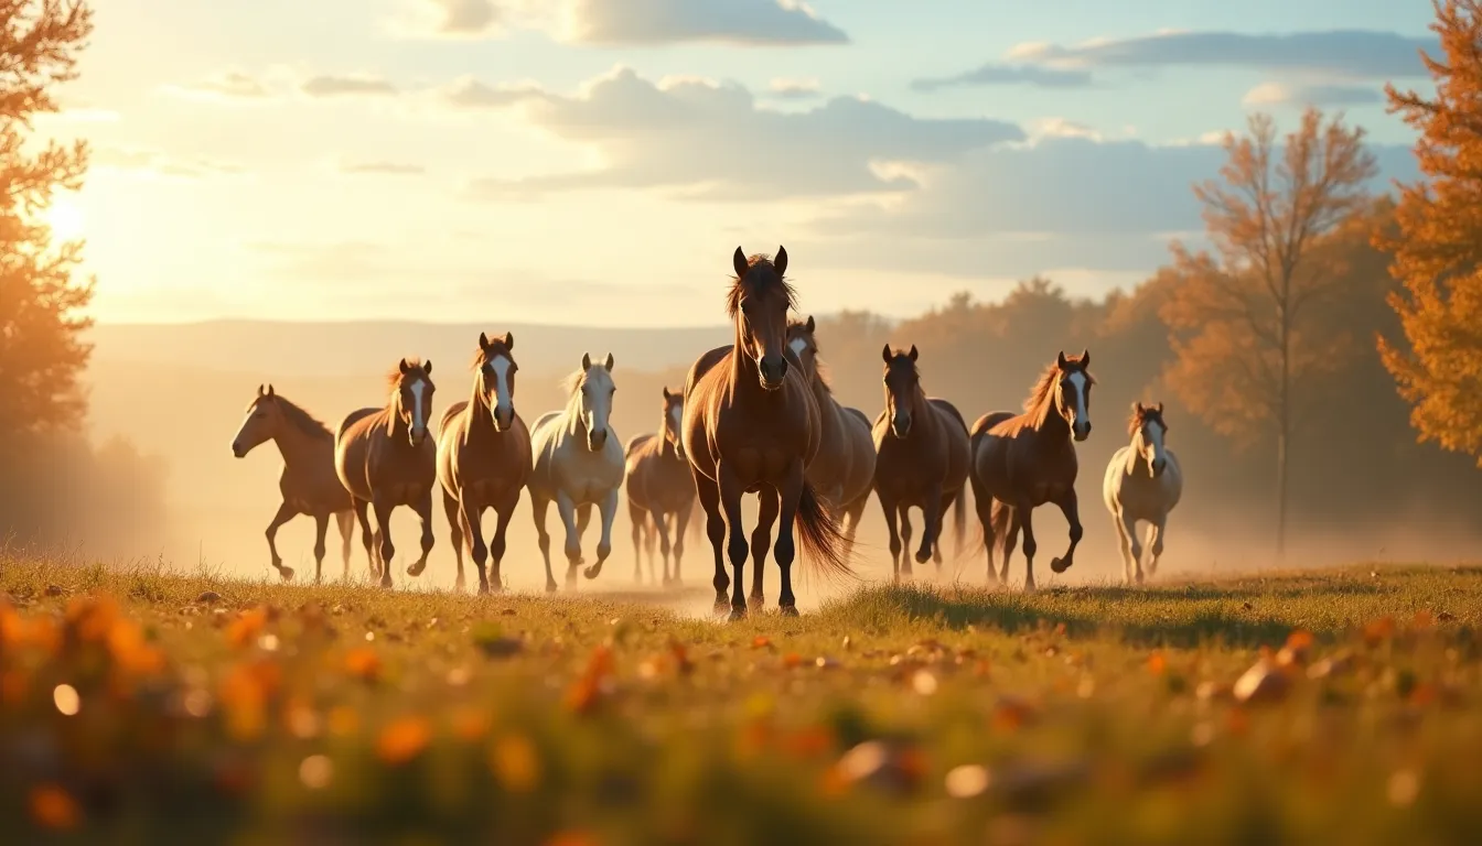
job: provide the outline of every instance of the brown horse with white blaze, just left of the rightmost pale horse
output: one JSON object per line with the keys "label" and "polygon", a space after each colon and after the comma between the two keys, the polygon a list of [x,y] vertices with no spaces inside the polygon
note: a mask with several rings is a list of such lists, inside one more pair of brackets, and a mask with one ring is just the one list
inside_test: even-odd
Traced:
{"label": "brown horse with white blaze, just left of the rightmost pale horse", "polygon": [[972,496],[977,501],[983,542],[993,576],[993,545],[1003,539],[1003,569],[1009,581],[1009,556],[1024,532],[1024,590],[1034,590],[1034,508],[1054,502],[1070,523],[1070,547],[1049,569],[1063,573],[1074,563],[1080,542],[1080,511],[1076,502],[1076,444],[1091,436],[1091,353],[1066,359],[1061,353],[1045,369],[1024,413],[994,412],[972,424]]}

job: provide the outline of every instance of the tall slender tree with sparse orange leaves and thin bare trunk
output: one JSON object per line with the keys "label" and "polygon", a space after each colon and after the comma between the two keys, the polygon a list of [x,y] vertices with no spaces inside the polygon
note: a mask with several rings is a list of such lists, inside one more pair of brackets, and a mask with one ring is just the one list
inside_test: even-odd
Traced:
{"label": "tall slender tree with sparse orange leaves and thin bare trunk", "polygon": [[1285,553],[1288,450],[1298,388],[1335,359],[1340,338],[1317,319],[1346,279],[1323,239],[1368,207],[1377,175],[1363,129],[1316,108],[1277,145],[1270,116],[1226,133],[1220,178],[1194,187],[1214,252],[1172,246],[1160,310],[1174,333],[1165,378],[1217,431],[1276,443],[1276,554]]}

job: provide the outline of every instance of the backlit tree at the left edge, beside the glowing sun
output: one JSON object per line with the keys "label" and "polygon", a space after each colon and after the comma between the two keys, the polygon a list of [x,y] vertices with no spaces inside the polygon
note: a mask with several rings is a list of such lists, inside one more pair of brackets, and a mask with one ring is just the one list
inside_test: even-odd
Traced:
{"label": "backlit tree at the left edge, beside the glowing sun", "polygon": [[53,243],[43,221],[53,193],[82,187],[87,147],[30,142],[90,31],[83,0],[0,0],[0,434],[76,428],[84,407],[93,287],[74,280],[82,242]]}

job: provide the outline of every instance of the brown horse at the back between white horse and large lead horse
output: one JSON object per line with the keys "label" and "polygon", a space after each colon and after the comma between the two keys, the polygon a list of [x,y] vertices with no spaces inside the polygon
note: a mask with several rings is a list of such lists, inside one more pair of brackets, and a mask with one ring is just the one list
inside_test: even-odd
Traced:
{"label": "brown horse at the back between white horse and large lead horse", "polygon": [[[658,535],[664,556],[664,584],[679,584],[679,566],[685,559],[685,529],[695,508],[695,477],[689,473],[680,425],[685,419],[685,396],[664,388],[664,413],[659,433],[634,436],[622,450],[625,473],[622,489],[628,496],[628,520],[633,523],[633,579],[643,582],[639,569],[639,545],[648,533],[649,581],[654,575],[652,538]],[[668,516],[674,516],[674,541],[670,547]],[[649,523],[652,517],[652,523]],[[674,573],[670,575],[670,550],[674,553]]]}

